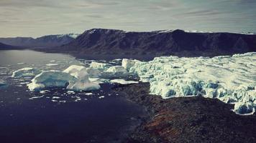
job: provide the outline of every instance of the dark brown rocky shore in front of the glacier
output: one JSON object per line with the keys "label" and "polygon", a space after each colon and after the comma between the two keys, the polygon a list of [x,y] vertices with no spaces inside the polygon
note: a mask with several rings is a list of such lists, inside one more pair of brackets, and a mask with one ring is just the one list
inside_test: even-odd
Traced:
{"label": "dark brown rocky shore in front of the glacier", "polygon": [[204,97],[162,99],[149,94],[150,84],[116,86],[116,92],[142,105],[150,117],[125,143],[256,142],[256,115],[241,116],[232,104]]}

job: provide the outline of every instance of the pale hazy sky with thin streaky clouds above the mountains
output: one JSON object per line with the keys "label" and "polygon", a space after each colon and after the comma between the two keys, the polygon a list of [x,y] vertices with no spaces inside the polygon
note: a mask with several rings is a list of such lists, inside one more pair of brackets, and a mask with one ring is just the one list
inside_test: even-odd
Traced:
{"label": "pale hazy sky with thin streaky clouds above the mountains", "polygon": [[255,32],[256,0],[0,0],[0,37],[93,28]]}

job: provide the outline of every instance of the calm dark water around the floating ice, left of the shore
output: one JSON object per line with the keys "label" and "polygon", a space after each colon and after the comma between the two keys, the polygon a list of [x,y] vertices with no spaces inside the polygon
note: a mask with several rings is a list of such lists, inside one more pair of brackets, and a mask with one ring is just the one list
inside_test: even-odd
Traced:
{"label": "calm dark water around the floating ice, left of the shore", "polygon": [[0,142],[122,142],[146,114],[111,91],[113,85],[101,84],[92,95],[58,88],[42,94],[28,91],[31,79],[11,77],[24,67],[63,70],[90,62],[64,54],[0,51],[0,79],[8,84],[0,89]]}

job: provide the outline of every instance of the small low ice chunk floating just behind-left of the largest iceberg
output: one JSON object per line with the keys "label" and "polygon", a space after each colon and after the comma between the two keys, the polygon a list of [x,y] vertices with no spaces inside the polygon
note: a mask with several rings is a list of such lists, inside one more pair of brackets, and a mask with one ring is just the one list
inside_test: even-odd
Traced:
{"label": "small low ice chunk floating just behind-left of the largest iceberg", "polygon": [[12,73],[12,77],[34,77],[36,74],[39,74],[39,70],[31,67],[25,67],[14,71]]}

